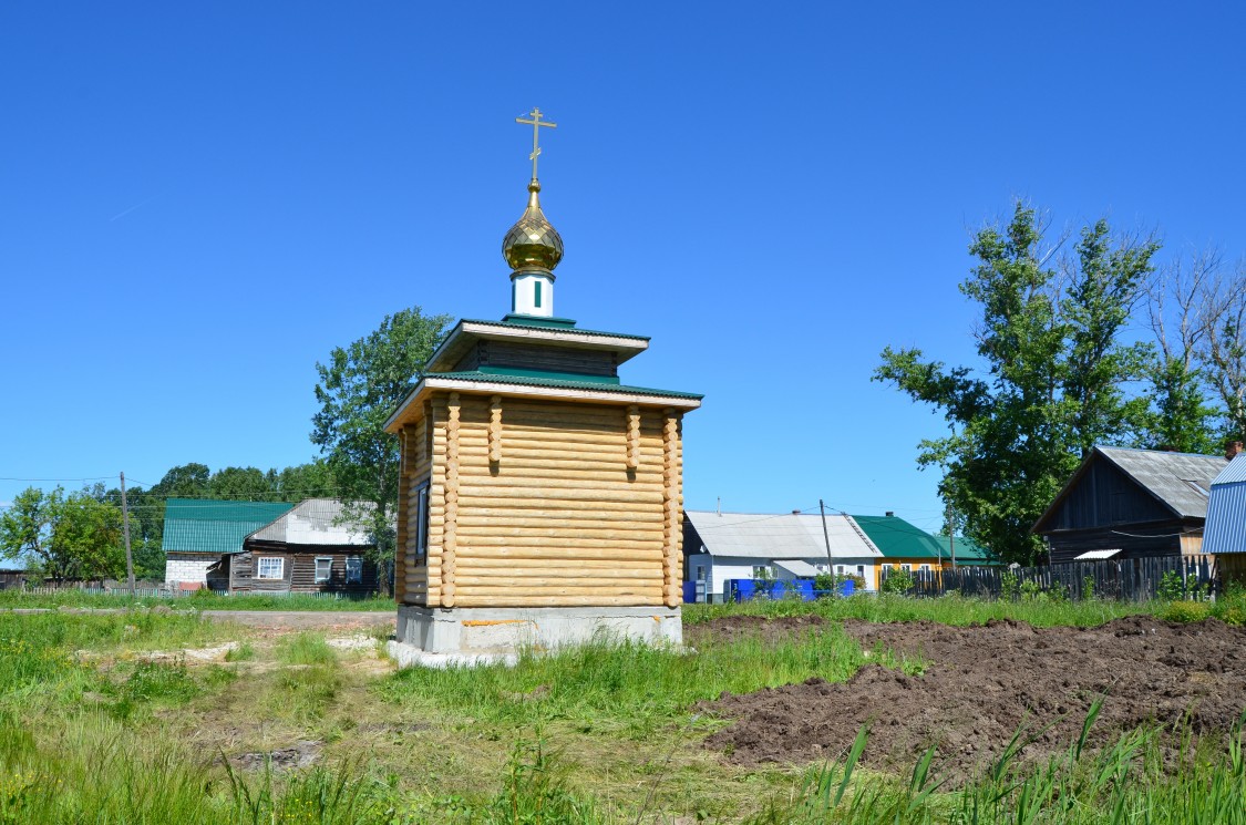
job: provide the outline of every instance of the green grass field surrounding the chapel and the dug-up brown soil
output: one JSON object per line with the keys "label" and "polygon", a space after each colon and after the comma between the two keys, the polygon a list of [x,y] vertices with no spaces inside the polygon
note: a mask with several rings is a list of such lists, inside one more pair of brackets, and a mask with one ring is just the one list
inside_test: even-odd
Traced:
{"label": "green grass field surrounding the chapel and the dug-up brown soil", "polygon": [[[687,621],[1095,624],[1138,609],[860,598],[690,607]],[[778,642],[710,637],[694,653],[602,641],[513,668],[395,673],[366,638],[181,612],[0,612],[0,823],[1246,821],[1240,732],[1184,751],[1149,730],[1096,751],[1074,740],[1045,765],[1006,755],[963,788],[920,754],[888,775],[854,751],[744,768],[701,745],[724,723],[699,700],[841,680],[866,660],[831,623]],[[303,751],[313,766],[282,769]]]}

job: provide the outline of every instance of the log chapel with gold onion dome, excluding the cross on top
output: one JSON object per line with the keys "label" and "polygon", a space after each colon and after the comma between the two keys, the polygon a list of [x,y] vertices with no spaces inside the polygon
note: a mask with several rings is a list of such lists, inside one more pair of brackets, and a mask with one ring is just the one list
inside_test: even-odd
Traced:
{"label": "log chapel with gold onion dome, excluding the cross on top", "polygon": [[682,638],[683,416],[700,396],[623,383],[648,338],[554,315],[563,247],[540,191],[533,174],[502,246],[512,312],[459,322],[385,426],[409,651]]}

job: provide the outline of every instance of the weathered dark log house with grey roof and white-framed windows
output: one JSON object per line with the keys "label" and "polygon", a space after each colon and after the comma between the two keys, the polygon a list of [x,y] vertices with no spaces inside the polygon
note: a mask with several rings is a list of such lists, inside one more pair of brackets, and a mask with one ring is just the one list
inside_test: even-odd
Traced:
{"label": "weathered dark log house with grey roof and white-framed windows", "polygon": [[243,540],[242,552],[208,568],[208,586],[231,593],[341,593],[380,589],[366,526],[343,522],[336,498],[307,498]]}

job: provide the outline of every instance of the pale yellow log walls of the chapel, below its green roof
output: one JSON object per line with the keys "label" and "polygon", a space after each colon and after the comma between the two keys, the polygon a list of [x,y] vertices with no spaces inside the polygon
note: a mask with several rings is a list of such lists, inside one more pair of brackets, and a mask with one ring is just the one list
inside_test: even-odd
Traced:
{"label": "pale yellow log walls of the chapel, below its green roof", "polygon": [[[441,607],[675,606],[677,410],[436,394],[406,455],[404,601]],[[419,452],[419,450],[417,450]],[[429,555],[415,491],[429,480]]]}

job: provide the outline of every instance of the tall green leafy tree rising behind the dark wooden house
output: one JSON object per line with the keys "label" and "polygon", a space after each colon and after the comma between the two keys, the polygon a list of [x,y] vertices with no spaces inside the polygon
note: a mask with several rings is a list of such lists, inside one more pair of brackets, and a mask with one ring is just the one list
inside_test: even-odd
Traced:
{"label": "tall green leafy tree rising behind the dark wooden house", "polygon": [[1006,228],[977,233],[978,264],[961,285],[982,309],[984,375],[920,349],[882,353],[875,380],[942,410],[952,429],[921,442],[918,464],[943,467],[943,500],[1006,561],[1040,556],[1030,527],[1087,450],[1136,439],[1145,403],[1121,386],[1139,378],[1145,353],[1120,335],[1156,249],[1113,243],[1100,221],[1082,231],[1060,273],[1035,212],[1018,203]]}

